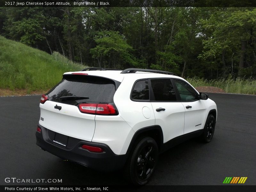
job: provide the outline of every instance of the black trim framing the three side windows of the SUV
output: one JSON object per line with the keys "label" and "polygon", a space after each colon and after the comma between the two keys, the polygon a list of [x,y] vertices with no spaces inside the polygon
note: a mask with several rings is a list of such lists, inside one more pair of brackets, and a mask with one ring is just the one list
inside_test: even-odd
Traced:
{"label": "black trim framing the three side windows of the SUV", "polygon": [[[172,86],[175,90],[175,95],[176,95],[176,99],[177,101],[155,101],[153,100],[154,99],[154,94],[153,94],[153,89],[152,89],[152,86],[151,86],[151,79],[170,79],[171,82],[172,82]],[[177,79],[177,80],[180,80],[180,81],[183,81],[182,79],[179,79],[179,78],[173,78],[173,77],[157,77],[157,78],[144,78],[144,79],[137,79],[134,83],[133,83],[133,86],[132,86],[132,90],[131,90],[131,94],[130,94],[130,99],[132,101],[135,101],[135,102],[162,102],[162,103],[165,103],[165,102],[194,102],[194,101],[198,101],[200,100],[200,96],[199,94],[197,93],[196,89],[194,89],[192,86],[190,86],[190,84],[188,84],[188,86],[190,86],[193,90],[195,90],[196,92],[196,96],[198,99],[196,100],[192,100],[192,101],[182,101],[181,98],[180,98],[180,94],[179,94],[179,91],[178,91],[178,88],[176,86],[176,84],[174,83],[174,79]],[[148,80],[148,89],[149,89],[149,100],[140,100],[140,99],[133,99],[132,98],[132,91],[134,89],[134,86],[135,84],[138,82],[138,81],[142,81],[142,80]],[[185,81],[183,81],[185,82]],[[185,82],[187,83],[187,82]]]}

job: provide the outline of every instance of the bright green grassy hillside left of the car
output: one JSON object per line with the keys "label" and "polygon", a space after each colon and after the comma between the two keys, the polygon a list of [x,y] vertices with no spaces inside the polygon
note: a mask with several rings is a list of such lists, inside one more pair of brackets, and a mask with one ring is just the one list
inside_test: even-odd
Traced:
{"label": "bright green grassy hillside left of the car", "polygon": [[50,55],[0,36],[0,89],[47,90],[67,71],[86,68],[58,52]]}

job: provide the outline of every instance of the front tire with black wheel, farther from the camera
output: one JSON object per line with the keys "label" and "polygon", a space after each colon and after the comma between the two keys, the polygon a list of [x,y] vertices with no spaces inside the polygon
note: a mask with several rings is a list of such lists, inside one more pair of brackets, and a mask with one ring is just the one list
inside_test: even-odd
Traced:
{"label": "front tire with black wheel, farther from the camera", "polygon": [[215,118],[212,114],[210,114],[205,122],[204,125],[204,132],[201,135],[201,140],[205,143],[209,143],[212,140],[213,134],[214,134],[214,130],[215,130]]}

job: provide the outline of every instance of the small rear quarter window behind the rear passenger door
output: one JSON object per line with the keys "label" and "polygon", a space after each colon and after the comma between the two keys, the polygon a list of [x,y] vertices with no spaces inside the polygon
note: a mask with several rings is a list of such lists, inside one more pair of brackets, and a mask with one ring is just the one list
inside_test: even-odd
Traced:
{"label": "small rear quarter window behind the rear passenger door", "polygon": [[149,100],[148,80],[137,81],[132,90],[132,99]]}

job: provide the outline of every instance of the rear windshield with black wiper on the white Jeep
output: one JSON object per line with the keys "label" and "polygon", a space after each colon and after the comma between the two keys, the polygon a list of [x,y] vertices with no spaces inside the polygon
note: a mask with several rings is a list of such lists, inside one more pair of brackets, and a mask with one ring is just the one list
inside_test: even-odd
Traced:
{"label": "rear windshield with black wiper on the white Jeep", "polygon": [[[66,75],[47,95],[50,101],[77,105],[81,102],[114,102],[115,92],[116,84],[111,79],[96,76]],[[65,96],[86,98],[60,99],[60,97]]]}

